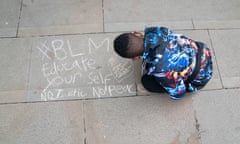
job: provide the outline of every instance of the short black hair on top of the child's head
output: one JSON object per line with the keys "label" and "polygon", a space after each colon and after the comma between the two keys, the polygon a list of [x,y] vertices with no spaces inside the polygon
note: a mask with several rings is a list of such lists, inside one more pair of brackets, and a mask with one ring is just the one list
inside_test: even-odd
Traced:
{"label": "short black hair on top of the child's head", "polygon": [[129,35],[130,33],[123,33],[119,35],[115,38],[113,44],[115,52],[124,58],[130,58],[130,56],[128,55],[130,43]]}

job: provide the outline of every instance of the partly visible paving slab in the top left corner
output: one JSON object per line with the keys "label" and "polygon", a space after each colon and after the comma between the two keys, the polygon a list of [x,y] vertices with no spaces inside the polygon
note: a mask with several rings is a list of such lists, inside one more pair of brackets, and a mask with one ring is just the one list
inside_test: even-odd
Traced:
{"label": "partly visible paving slab in the top left corner", "polygon": [[20,8],[20,0],[1,0],[0,37],[16,37]]}

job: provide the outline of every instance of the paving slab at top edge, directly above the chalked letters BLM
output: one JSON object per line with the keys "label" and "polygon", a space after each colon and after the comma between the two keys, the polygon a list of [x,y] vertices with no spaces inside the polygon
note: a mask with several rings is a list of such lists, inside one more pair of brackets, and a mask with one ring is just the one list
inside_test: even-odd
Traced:
{"label": "paving slab at top edge, directly above the chalked letters BLM", "polygon": [[102,31],[101,0],[23,0],[18,36]]}

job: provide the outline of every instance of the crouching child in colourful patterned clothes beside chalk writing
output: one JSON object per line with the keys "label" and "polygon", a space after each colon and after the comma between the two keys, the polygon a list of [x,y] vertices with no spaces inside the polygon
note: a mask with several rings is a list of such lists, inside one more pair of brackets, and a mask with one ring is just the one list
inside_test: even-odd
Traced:
{"label": "crouching child in colourful patterned clothes beside chalk writing", "polygon": [[181,99],[185,92],[203,88],[212,77],[212,58],[207,45],[165,27],[147,27],[124,33],[114,40],[114,50],[124,58],[143,59],[142,84],[151,92],[167,92]]}

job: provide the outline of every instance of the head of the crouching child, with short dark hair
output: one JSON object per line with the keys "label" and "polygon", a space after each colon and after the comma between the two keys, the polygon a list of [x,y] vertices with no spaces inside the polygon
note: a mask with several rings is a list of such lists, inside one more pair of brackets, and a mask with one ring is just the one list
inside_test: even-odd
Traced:
{"label": "head of the crouching child, with short dark hair", "polygon": [[124,58],[137,58],[143,55],[143,36],[139,32],[124,33],[114,40],[115,52]]}

